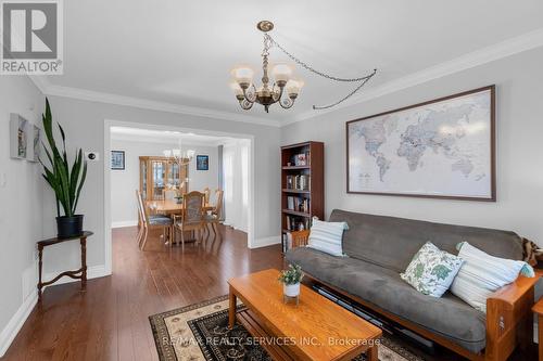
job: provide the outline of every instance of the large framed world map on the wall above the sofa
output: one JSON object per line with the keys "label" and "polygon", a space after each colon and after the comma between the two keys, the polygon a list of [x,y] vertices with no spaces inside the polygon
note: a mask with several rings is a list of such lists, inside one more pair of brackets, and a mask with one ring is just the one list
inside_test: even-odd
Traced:
{"label": "large framed world map on the wall above the sofa", "polygon": [[346,123],[348,193],[496,199],[495,87]]}

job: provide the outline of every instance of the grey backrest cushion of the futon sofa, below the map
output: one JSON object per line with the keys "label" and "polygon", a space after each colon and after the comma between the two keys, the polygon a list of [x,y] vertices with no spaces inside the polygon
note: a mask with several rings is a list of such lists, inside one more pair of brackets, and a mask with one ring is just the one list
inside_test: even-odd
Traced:
{"label": "grey backrest cushion of the futon sofa, below the map", "polygon": [[522,259],[522,240],[514,232],[432,223],[413,219],[334,209],[330,221],[345,221],[343,252],[352,257],[403,272],[426,242],[457,255],[456,244],[472,246],[501,258]]}

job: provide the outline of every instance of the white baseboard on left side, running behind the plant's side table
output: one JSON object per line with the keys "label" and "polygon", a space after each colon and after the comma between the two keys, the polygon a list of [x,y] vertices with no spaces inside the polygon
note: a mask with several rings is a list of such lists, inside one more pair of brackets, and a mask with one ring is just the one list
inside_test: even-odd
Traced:
{"label": "white baseboard on left side, running behind the plant's side table", "polygon": [[[52,280],[58,273],[48,273],[43,275],[45,281]],[[108,272],[105,265],[92,266],[87,269],[87,279],[98,279],[110,275]],[[79,280],[74,280],[68,276],[64,276],[54,283],[55,285],[70,283],[70,282],[79,282]],[[53,286],[53,285],[51,285]],[[51,287],[49,286],[49,287]],[[45,287],[47,288],[47,287]],[[18,331],[25,324],[26,319],[33,311],[34,307],[38,301],[38,291],[34,289],[28,297],[26,297],[25,301],[17,309],[15,314],[11,318],[10,322],[5,325],[5,327],[0,333],[0,358],[4,356],[5,351],[10,347],[11,343],[17,335]]]}

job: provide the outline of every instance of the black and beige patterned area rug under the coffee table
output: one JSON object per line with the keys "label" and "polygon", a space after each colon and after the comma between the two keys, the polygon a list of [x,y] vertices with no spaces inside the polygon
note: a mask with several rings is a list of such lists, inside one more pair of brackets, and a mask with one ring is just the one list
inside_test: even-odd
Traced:
{"label": "black and beige patterned area rug under the coffee table", "polygon": [[[244,306],[239,302],[238,310]],[[228,330],[228,296],[149,317],[161,361],[272,361],[262,346],[239,323]],[[364,354],[354,359],[364,361]],[[420,361],[384,335],[381,361]]]}

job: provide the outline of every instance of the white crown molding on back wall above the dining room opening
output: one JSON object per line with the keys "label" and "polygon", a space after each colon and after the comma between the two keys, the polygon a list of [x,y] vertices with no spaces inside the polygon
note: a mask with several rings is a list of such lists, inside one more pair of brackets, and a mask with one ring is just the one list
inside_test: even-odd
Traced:
{"label": "white crown molding on back wall above the dining room opening", "polygon": [[280,127],[280,123],[275,119],[255,117],[244,114],[237,114],[231,112],[214,111],[210,108],[180,105],[167,102],[153,101],[141,98],[125,96],[105,92],[99,92],[93,90],[62,87],[55,85],[49,85],[42,90],[46,95],[54,95],[62,98],[72,98],[77,100],[84,100],[89,102],[108,103],[114,105],[131,106],[149,111],[176,113],[184,115],[193,115],[199,117],[206,117],[213,119],[224,119],[230,121],[241,121],[248,124],[256,124],[268,127]]}

